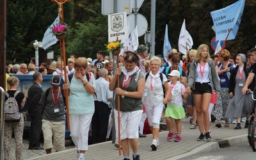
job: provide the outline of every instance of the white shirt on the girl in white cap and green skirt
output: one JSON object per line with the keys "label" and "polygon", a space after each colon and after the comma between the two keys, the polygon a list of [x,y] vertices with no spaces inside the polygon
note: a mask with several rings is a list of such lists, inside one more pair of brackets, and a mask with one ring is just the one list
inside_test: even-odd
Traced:
{"label": "white shirt on the girl in white cap and green skirt", "polygon": [[[172,81],[168,82],[168,86],[171,88]],[[177,81],[175,86],[172,88],[172,100],[170,100],[167,105],[177,107],[182,106],[183,100],[182,95],[185,92],[185,86],[180,83],[180,81]]]}

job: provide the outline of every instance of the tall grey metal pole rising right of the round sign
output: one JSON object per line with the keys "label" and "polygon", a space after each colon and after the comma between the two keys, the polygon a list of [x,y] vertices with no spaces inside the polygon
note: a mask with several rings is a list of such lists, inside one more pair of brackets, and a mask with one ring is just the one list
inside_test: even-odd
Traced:
{"label": "tall grey metal pole rising right of the round sign", "polygon": [[156,0],[151,0],[151,22],[150,22],[150,56],[155,56],[155,33],[156,33]]}

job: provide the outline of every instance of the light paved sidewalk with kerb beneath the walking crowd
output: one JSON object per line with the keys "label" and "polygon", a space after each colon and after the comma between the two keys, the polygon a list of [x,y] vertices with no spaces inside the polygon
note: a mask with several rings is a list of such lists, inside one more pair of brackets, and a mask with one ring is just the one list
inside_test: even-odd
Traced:
{"label": "light paved sidewalk with kerb beneath the walking crowd", "polygon": [[[223,146],[227,145],[237,145],[239,143],[244,143],[247,140],[247,129],[244,129],[244,124],[242,123],[242,129],[234,130],[236,125],[230,124],[230,127],[217,128],[216,123],[211,124],[211,142],[207,141],[196,141],[200,135],[198,127],[196,129],[189,129],[189,118],[182,120],[182,141],[174,142],[167,141],[166,137],[168,131],[162,131],[159,133],[159,147],[156,151],[151,150],[152,134],[148,134],[147,138],[140,138],[139,152],[141,159],[184,159],[185,157],[191,156],[199,152],[206,152],[210,150],[217,150],[219,147],[218,142],[223,142]],[[225,141],[226,140],[226,141]],[[124,157],[119,156],[118,148],[114,147],[111,141],[104,143],[98,143],[95,145],[90,145],[89,150],[85,153],[85,159],[124,159]],[[76,159],[77,153],[76,148],[70,148],[63,150],[61,152],[54,152],[52,154],[33,157],[30,159]],[[132,159],[132,150],[130,150],[130,156]]]}

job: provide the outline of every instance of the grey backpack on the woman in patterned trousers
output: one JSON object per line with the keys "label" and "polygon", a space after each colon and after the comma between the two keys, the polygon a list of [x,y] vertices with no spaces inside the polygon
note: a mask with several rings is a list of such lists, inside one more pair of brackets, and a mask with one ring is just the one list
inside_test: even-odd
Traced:
{"label": "grey backpack on the woman in patterned trousers", "polygon": [[20,92],[17,91],[13,95],[13,97],[10,97],[10,95],[5,92],[5,95],[8,97],[8,99],[4,102],[4,121],[5,122],[20,122],[20,111],[19,111],[19,105],[15,97]]}

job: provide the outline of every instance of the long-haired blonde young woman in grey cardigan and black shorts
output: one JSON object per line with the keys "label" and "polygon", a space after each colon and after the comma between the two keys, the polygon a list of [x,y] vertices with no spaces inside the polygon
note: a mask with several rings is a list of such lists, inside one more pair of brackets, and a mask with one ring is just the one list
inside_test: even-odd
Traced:
{"label": "long-haired blonde young woman in grey cardigan and black shorts", "polygon": [[215,64],[210,59],[209,47],[206,44],[198,47],[195,60],[190,65],[186,92],[191,93],[191,89],[195,99],[196,120],[200,131],[197,141],[202,141],[204,138],[210,141],[212,138],[209,132],[210,118],[208,110],[212,91],[216,90],[217,98],[220,95],[220,81],[215,70]]}

